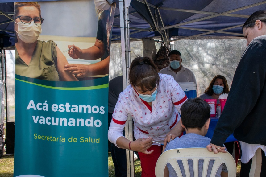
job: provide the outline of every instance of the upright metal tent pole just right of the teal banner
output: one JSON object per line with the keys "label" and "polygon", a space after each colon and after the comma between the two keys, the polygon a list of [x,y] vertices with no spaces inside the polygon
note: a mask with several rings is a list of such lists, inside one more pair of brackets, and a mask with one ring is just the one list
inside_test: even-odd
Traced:
{"label": "upright metal tent pole just right of the teal banner", "polygon": [[[130,34],[129,34],[129,8],[125,7],[125,1],[119,1],[119,13],[120,13],[120,31],[121,31],[121,51],[122,51],[122,73],[123,73],[123,89],[129,84],[128,70],[130,61]],[[125,137],[130,141],[133,141],[133,126],[132,117],[128,116],[125,125]],[[127,153],[127,176],[135,176],[134,169],[134,154],[133,151],[126,150]]]}

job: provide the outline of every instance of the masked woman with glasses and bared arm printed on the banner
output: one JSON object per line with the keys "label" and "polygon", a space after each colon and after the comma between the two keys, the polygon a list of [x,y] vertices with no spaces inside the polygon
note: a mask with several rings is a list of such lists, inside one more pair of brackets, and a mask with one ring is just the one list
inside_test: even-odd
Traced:
{"label": "masked woman with glasses and bared arm printed on the banner", "polygon": [[65,56],[53,41],[37,40],[42,32],[40,5],[15,3],[15,73],[41,80],[77,81],[69,71]]}

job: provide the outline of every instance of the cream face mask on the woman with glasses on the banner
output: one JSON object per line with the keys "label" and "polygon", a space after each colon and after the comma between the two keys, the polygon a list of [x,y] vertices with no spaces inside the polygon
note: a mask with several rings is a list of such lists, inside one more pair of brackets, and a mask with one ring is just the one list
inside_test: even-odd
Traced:
{"label": "cream face mask on the woman with glasses on the banner", "polygon": [[[15,22],[16,23],[16,22]],[[25,24],[22,22],[18,24],[18,37],[25,43],[34,43],[39,38],[42,32],[42,25],[35,25],[32,21],[30,24]]]}

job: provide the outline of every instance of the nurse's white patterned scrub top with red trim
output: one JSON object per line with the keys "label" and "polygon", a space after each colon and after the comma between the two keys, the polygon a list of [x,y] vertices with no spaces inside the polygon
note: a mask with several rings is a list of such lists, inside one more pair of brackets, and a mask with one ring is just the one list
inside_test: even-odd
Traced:
{"label": "nurse's white patterned scrub top with red trim", "polygon": [[180,120],[180,108],[187,97],[171,75],[158,74],[160,84],[152,107],[139,98],[131,85],[119,94],[108,130],[108,138],[116,146],[116,140],[123,136],[128,114],[134,121],[135,139],[152,137],[160,143],[163,143],[166,134]]}

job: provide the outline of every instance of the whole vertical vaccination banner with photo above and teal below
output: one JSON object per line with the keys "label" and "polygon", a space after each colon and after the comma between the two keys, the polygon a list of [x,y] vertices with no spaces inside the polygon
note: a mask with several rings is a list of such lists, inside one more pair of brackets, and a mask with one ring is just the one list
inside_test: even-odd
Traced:
{"label": "whole vertical vaccination banner with photo above and teal below", "polygon": [[14,176],[108,176],[108,1],[15,3]]}

